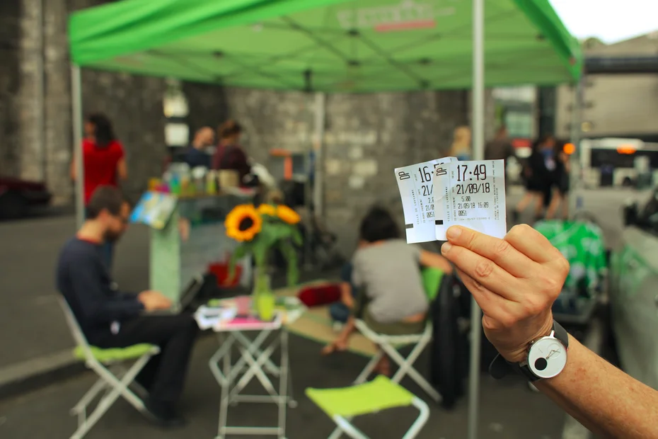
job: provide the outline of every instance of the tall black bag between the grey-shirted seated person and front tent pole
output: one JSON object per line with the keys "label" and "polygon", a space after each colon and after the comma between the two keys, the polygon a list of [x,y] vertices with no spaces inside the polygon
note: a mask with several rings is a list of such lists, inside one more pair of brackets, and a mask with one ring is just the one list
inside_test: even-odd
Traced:
{"label": "tall black bag between the grey-shirted seated person and front tent pole", "polygon": [[446,409],[452,409],[463,396],[463,380],[468,373],[468,340],[458,327],[457,319],[462,310],[455,285],[452,276],[444,276],[429,309],[433,322],[429,380],[441,394],[441,404]]}

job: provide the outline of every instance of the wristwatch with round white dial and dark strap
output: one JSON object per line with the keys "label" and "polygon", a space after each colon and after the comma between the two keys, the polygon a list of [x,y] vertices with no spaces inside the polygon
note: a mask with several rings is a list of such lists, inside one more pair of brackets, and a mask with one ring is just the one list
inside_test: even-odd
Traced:
{"label": "wristwatch with round white dial and dark strap", "polygon": [[524,375],[530,382],[553,378],[567,365],[568,348],[569,334],[554,320],[553,329],[548,336],[531,341],[526,360],[521,363],[509,363],[498,354],[489,366],[489,373],[497,380],[507,375],[510,369]]}

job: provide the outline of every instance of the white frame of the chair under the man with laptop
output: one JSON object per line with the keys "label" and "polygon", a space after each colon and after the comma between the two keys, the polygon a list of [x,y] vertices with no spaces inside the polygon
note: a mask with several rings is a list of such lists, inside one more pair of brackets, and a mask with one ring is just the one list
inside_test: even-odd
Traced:
{"label": "white frame of the chair under the man with laptop", "polygon": [[[138,411],[143,412],[145,410],[144,401],[134,394],[129,389],[129,386],[134,385],[138,387],[137,383],[133,382],[135,377],[137,377],[137,374],[149,362],[151,357],[160,353],[160,349],[154,346],[149,352],[142,355],[142,357],[137,358],[127,370],[125,367],[122,367],[122,361],[103,365],[93,355],[91,347],[64,297],[59,297],[59,304],[62,306],[64,315],[67,317],[67,324],[69,325],[71,334],[77,346],[83,352],[85,366],[96,372],[96,375],[99,377],[98,381],[84,394],[78,404],[71,409],[71,416],[78,417],[78,429],[71,435],[71,439],[82,439],[119,397],[123,397]],[[144,389],[139,388],[139,390],[144,392]],[[88,406],[103,391],[105,394],[100,398],[98,404],[96,404],[96,408],[87,416]]]}

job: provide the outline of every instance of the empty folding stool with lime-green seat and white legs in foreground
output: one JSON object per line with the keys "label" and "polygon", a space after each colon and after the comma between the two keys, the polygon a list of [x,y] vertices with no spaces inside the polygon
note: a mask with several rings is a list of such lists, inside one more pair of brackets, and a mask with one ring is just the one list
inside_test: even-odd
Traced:
{"label": "empty folding stool with lime-green seat and white legs in foreground", "polygon": [[350,421],[354,416],[374,414],[385,409],[412,405],[420,411],[403,439],[415,438],[429,418],[429,407],[425,401],[381,375],[371,382],[342,389],[306,389],[306,395],[336,423],[337,427],[329,439],[338,439],[342,433],[353,439],[368,439]]}

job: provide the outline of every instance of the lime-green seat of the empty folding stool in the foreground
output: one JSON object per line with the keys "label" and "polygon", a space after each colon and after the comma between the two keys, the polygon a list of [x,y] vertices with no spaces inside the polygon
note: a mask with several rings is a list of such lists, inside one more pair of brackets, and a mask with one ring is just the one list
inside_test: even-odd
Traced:
{"label": "lime-green seat of the empty folding stool in the foreground", "polygon": [[306,395],[331,418],[371,414],[405,407],[415,396],[407,389],[379,375],[371,382],[342,389],[306,389]]}

